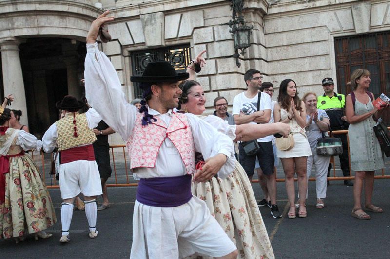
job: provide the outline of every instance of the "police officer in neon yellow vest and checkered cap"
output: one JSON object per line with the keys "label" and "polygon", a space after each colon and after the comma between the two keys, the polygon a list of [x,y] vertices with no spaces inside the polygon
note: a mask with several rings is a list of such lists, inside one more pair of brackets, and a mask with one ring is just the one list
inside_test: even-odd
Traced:
{"label": "police officer in neon yellow vest and checkered cap", "polygon": [[[324,88],[324,94],[318,96],[317,108],[326,111],[329,116],[332,130],[347,130],[349,124],[347,122],[347,116],[345,116],[344,94],[334,92],[334,82],[330,77],[326,77],[322,80],[322,87]],[[344,176],[350,176],[347,135],[340,134],[337,135],[337,137],[341,138],[343,143],[343,154],[339,155],[340,167]],[[328,167],[328,177],[330,171],[331,164],[329,164]],[[347,186],[353,186],[353,182],[351,180],[344,180],[344,184]]]}

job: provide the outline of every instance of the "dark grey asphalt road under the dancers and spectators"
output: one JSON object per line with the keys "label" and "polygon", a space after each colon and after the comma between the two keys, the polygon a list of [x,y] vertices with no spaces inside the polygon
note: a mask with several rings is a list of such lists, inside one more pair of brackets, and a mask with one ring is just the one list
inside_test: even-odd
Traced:
{"label": "dark grey asphalt road under the dancers and spectators", "polygon": [[[278,183],[278,205],[283,218],[273,219],[268,208],[260,208],[276,258],[390,258],[390,180],[375,180],[373,201],[384,213],[369,213],[367,221],[351,217],[352,187],[333,181],[323,209],[316,209],[315,182],[309,183],[308,217],[288,219],[284,183]],[[261,190],[253,184],[257,199]],[[132,214],[136,187],[109,188],[111,207],[98,212],[96,239],[88,238],[85,213],[75,211],[71,224],[71,242],[59,243],[61,236],[60,194],[50,190],[55,203],[58,222],[47,232],[53,237],[34,240],[29,236],[15,244],[14,240],[0,240],[2,258],[129,258],[132,242]]]}

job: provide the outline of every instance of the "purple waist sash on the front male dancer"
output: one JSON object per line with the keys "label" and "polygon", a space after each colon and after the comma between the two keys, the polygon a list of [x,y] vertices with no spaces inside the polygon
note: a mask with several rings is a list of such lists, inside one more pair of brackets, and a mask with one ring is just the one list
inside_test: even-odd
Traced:
{"label": "purple waist sash on the front male dancer", "polygon": [[177,207],[192,198],[191,175],[141,179],[137,201],[154,207]]}

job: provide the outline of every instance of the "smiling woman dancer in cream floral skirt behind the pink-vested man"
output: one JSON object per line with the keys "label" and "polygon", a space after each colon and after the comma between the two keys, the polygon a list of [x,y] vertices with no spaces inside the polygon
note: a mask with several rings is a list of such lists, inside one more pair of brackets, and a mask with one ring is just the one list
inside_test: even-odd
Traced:
{"label": "smiling woman dancer in cream floral skirt behind the pink-vested man", "polygon": [[[196,63],[205,63],[201,57],[203,53],[197,56]],[[194,71],[194,65],[190,64],[187,69],[190,79],[180,84],[183,91],[180,110],[200,116],[205,111],[206,97],[203,87],[191,80],[195,78]],[[289,127],[282,123],[236,126],[229,125],[218,116],[201,117],[234,141],[248,141],[275,133],[287,135],[289,131]],[[196,163],[201,164],[202,154],[195,153],[195,156]],[[238,258],[274,258],[251,183],[238,161],[235,162],[234,171],[226,179],[213,177],[203,183],[193,182],[192,192],[206,202],[212,215],[235,243],[240,251]]]}

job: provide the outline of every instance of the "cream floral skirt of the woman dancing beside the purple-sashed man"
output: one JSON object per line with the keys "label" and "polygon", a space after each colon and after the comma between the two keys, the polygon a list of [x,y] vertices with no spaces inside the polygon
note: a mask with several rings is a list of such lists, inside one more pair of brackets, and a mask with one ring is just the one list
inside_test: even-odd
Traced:
{"label": "cream floral skirt of the woman dancing beside the purple-sashed man", "polygon": [[252,185],[238,161],[226,179],[213,177],[205,183],[193,182],[192,193],[206,202],[211,214],[237,246],[238,258],[274,258]]}

